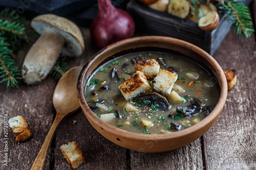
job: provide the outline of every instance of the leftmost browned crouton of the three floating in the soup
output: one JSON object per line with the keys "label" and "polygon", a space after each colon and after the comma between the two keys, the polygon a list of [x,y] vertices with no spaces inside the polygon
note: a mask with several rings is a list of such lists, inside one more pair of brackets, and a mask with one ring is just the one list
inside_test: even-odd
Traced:
{"label": "leftmost browned crouton of the three floating in the soup", "polygon": [[131,78],[118,87],[126,100],[132,100],[137,95],[150,89],[143,72],[137,71]]}

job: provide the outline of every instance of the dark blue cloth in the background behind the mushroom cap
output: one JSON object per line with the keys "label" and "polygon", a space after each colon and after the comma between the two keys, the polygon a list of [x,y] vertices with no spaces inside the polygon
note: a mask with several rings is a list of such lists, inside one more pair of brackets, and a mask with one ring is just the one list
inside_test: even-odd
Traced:
{"label": "dark blue cloth in the background behind the mushroom cap", "polygon": [[[116,8],[126,9],[129,0],[112,0]],[[39,14],[52,13],[74,21],[80,27],[90,27],[98,12],[97,0],[1,0],[0,10],[13,8],[28,19]]]}

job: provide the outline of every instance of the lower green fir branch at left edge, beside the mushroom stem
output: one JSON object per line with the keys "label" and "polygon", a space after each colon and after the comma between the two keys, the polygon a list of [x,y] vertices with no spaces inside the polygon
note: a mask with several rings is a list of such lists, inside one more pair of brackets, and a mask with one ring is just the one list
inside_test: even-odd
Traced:
{"label": "lower green fir branch at left edge, beside the mushroom stem", "polygon": [[9,45],[6,38],[0,36],[0,83],[6,83],[7,88],[18,87],[17,79],[21,79],[20,70],[10,57],[12,51],[8,48]]}

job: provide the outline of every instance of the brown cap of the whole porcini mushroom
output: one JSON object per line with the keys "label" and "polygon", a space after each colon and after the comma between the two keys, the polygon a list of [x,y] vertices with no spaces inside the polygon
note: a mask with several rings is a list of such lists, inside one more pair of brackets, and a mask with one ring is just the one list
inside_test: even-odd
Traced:
{"label": "brown cap of the whole porcini mushroom", "polygon": [[84,41],[78,26],[71,20],[54,14],[38,15],[31,21],[31,27],[38,33],[47,31],[60,33],[66,40],[62,53],[70,57],[78,57],[84,51]]}

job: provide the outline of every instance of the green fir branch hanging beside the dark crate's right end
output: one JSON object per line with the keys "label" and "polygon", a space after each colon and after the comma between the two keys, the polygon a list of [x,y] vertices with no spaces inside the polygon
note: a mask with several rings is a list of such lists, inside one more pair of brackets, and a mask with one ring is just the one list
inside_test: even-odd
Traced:
{"label": "green fir branch hanging beside the dark crate's right end", "polygon": [[219,4],[220,11],[227,14],[226,19],[232,20],[236,34],[241,38],[243,35],[248,38],[254,32],[253,23],[251,21],[248,7],[243,3],[224,1],[224,4]]}

